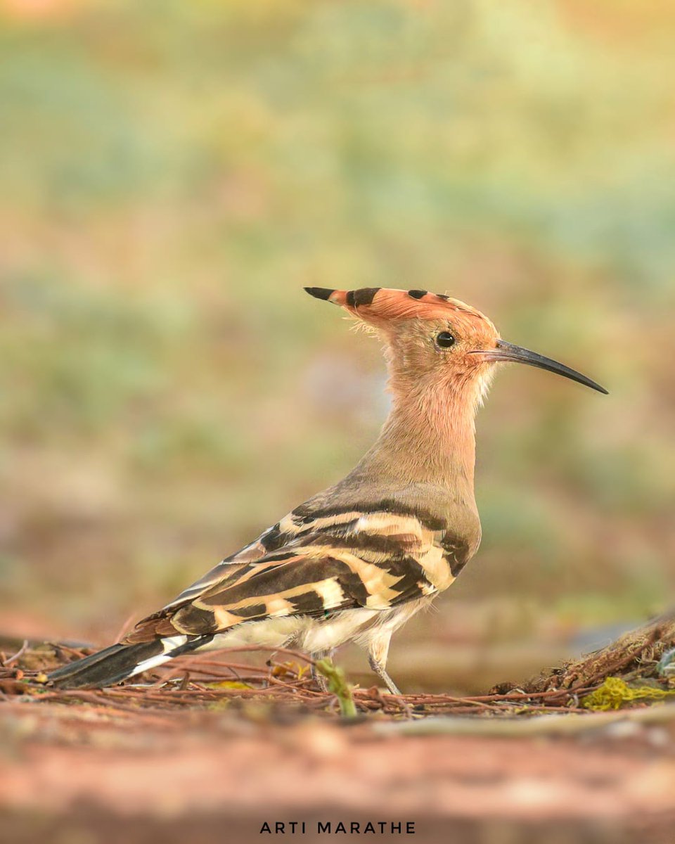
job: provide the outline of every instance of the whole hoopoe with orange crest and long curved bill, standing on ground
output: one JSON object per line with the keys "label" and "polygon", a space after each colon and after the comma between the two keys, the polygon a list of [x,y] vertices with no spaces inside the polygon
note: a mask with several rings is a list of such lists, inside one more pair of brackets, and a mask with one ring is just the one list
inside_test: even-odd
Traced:
{"label": "whole hoopoe with orange crest and long curved bill, standing on ground", "polygon": [[392,408],[337,484],[226,557],[111,647],[49,675],[102,687],[213,648],[296,647],[319,658],[355,641],[392,694],[392,633],[456,579],[478,549],[474,417],[495,365],[516,361],[607,393],[507,343],[475,308],[426,290],[305,288],[385,345]]}

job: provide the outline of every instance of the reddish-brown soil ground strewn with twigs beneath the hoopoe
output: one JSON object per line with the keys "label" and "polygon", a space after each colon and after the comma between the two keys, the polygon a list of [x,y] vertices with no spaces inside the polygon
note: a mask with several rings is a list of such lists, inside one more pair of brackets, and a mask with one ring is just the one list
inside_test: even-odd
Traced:
{"label": "reddish-brown soil ground strewn with twigs beneath the hoopoe", "polygon": [[[419,698],[363,691],[356,700],[367,714],[345,719],[334,695],[321,699],[309,679],[279,670],[282,685],[270,687],[269,674],[264,694],[184,678],[51,696],[27,693],[19,663],[5,668],[0,702],[0,841],[8,844],[675,841],[669,704],[548,719],[582,725],[570,734],[483,734],[486,722],[532,722],[513,717],[519,701],[494,695],[489,704],[452,704],[480,712],[462,718],[464,734],[403,734],[433,726]],[[272,834],[262,831],[266,821]],[[305,831],[293,835],[291,821]],[[332,823],[330,834],[320,821]],[[375,834],[365,832],[369,821]],[[277,823],[283,834],[274,834]]]}

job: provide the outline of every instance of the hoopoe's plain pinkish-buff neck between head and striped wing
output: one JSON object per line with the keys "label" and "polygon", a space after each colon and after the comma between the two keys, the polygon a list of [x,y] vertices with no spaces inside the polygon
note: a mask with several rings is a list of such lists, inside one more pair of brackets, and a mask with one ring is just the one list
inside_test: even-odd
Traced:
{"label": "hoopoe's plain pinkish-buff neck between head and striped wing", "polygon": [[382,484],[435,484],[475,506],[475,381],[390,381],[392,410],[356,468]]}

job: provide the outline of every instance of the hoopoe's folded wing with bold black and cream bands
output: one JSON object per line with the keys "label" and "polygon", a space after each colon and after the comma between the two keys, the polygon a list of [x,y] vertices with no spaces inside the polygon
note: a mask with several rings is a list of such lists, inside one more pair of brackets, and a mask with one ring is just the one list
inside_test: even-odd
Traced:
{"label": "hoopoe's folded wing with bold black and cream bands", "polygon": [[257,540],[276,547],[219,564],[182,599],[141,621],[126,641],[214,635],[242,621],[289,615],[389,609],[445,589],[457,553],[448,550],[445,524],[397,510],[298,508]]}

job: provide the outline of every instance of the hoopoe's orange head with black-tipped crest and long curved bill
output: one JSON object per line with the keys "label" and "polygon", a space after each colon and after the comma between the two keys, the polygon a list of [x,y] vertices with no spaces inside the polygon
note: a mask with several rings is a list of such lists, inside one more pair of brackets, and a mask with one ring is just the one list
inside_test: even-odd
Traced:
{"label": "hoopoe's orange head with black-tipped crest and long curved bill", "polygon": [[306,287],[375,328],[386,340],[394,373],[413,385],[428,379],[467,384],[480,396],[494,365],[514,361],[555,372],[598,392],[607,390],[556,360],[507,343],[488,317],[472,306],[426,290],[365,288],[331,290]]}

